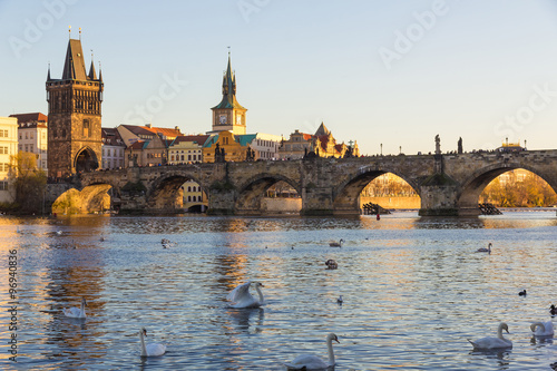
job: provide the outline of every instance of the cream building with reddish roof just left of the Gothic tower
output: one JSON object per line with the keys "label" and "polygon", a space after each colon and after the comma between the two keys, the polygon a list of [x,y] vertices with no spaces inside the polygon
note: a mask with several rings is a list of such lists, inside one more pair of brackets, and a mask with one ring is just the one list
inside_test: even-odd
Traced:
{"label": "cream building with reddish roof just left of the Gothic tower", "polygon": [[41,113],[10,115],[18,119],[19,150],[35,154],[37,167],[48,172],[48,116]]}

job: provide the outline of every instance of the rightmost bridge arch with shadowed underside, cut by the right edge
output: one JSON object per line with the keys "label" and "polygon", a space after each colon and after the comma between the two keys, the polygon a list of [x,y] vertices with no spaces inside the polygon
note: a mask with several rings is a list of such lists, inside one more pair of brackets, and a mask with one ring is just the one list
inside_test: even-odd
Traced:
{"label": "rightmost bridge arch with shadowed underside, cut by the right edge", "polygon": [[481,192],[487,187],[491,180],[497,178],[499,175],[515,170],[518,168],[524,168],[530,173],[536,174],[543,178],[547,184],[557,192],[557,182],[550,174],[545,174],[545,172],[537,169],[527,164],[521,163],[498,163],[491,164],[489,166],[482,167],[473,172],[468,176],[465,182],[462,182],[459,192],[457,193],[457,205],[460,211],[476,211],[478,212],[478,202]]}

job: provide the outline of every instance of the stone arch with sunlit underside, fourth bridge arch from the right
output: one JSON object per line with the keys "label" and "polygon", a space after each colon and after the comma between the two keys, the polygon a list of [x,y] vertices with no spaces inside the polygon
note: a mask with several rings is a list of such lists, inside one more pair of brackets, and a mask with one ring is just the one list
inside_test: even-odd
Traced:
{"label": "stone arch with sunlit underside, fourth bridge arch from the right", "polygon": [[187,180],[193,180],[202,187],[202,192],[208,195],[208,185],[189,173],[168,172],[162,173],[163,176],[154,180],[147,189],[146,203],[155,212],[172,213],[183,211],[184,201],[180,187]]}

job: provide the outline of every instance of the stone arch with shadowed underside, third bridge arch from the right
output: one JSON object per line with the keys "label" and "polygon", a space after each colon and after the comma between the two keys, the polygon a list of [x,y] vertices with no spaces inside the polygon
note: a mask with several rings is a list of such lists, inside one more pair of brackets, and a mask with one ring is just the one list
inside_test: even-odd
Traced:
{"label": "stone arch with shadowed underside, third bridge arch from the right", "polygon": [[284,182],[302,195],[301,186],[291,178],[280,174],[257,174],[242,183],[237,188],[235,212],[244,215],[261,215],[265,192],[274,184]]}

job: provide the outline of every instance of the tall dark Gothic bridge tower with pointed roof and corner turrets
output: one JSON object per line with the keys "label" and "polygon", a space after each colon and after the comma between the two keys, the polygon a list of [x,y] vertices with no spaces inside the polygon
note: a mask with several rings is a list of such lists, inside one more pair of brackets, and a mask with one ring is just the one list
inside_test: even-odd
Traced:
{"label": "tall dark Gothic bridge tower with pointed roof and corner turrets", "polygon": [[50,66],[48,68],[49,176],[63,177],[99,167],[102,90],[102,74],[99,70],[97,78],[92,55],[89,74],[86,74],[81,37],[70,38],[62,78],[50,78]]}

